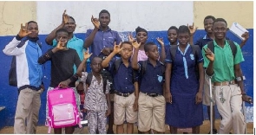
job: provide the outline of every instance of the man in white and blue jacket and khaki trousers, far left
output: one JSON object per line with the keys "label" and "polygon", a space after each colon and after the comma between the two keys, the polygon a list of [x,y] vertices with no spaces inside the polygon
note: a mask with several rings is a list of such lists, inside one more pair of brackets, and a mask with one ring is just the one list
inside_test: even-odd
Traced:
{"label": "man in white and blue jacket and khaki trousers, far left", "polygon": [[40,94],[44,89],[42,66],[37,63],[38,57],[42,55],[42,50],[36,42],[37,36],[36,22],[30,21],[25,26],[21,24],[19,33],[3,49],[5,55],[16,56],[16,80],[19,91],[14,121],[16,134],[36,133],[41,106]]}

